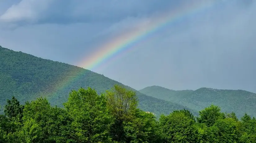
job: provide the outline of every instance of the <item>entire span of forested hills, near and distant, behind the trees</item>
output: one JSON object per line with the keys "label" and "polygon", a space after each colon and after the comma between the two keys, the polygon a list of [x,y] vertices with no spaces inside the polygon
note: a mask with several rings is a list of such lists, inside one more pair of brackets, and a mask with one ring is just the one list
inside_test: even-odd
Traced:
{"label": "entire span of forested hills, near and distant, behind the trees", "polygon": [[[52,105],[62,106],[68,93],[80,87],[95,88],[100,94],[121,84],[95,72],[35,57],[0,47],[0,105],[15,96],[21,103],[43,96]],[[132,87],[132,85],[131,85]],[[128,86],[126,88],[132,89]],[[133,89],[135,90],[135,89]],[[194,115],[201,109],[215,104],[224,112],[245,112],[255,116],[256,94],[242,90],[200,88],[195,91],[174,91],[159,86],[137,91],[139,108],[144,111],[169,114],[178,109],[188,109]]]}

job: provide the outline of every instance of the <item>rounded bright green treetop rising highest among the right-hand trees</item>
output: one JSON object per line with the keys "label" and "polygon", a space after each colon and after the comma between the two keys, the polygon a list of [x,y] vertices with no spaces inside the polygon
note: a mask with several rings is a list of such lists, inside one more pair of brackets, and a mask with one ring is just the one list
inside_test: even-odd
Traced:
{"label": "rounded bright green treetop rising highest among the right-hand trees", "polygon": [[224,119],[225,114],[220,112],[221,109],[218,106],[211,105],[202,111],[199,111],[199,117],[197,117],[198,123],[205,123],[208,127],[214,125],[218,119]]}

